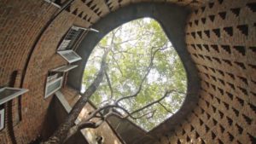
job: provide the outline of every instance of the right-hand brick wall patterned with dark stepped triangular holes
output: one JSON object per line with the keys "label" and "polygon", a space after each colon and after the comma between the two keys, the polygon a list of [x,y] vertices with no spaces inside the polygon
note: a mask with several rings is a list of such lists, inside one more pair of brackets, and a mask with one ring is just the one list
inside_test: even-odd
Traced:
{"label": "right-hand brick wall patterned with dark stepped triangular holes", "polygon": [[215,0],[191,14],[187,46],[201,76],[197,107],[159,143],[255,143],[255,1]]}

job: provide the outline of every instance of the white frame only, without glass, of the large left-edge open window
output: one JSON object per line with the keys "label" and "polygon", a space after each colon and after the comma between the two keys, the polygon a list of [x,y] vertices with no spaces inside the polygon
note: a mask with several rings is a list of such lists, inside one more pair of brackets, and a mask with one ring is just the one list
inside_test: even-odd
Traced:
{"label": "white frame only, without glass, of the large left-edge open window", "polygon": [[28,89],[19,89],[19,88],[11,88],[11,87],[3,87],[2,89],[0,89],[0,97],[1,97],[1,92],[4,90],[4,89],[9,89],[9,90],[19,90],[17,92],[15,92],[14,94],[12,95],[9,95],[3,99],[0,98],[0,105],[2,105],[3,103],[7,102],[7,101],[10,101],[10,100],[13,100],[15,97],[18,97],[19,95],[23,95],[24,93],[26,93],[28,91]]}

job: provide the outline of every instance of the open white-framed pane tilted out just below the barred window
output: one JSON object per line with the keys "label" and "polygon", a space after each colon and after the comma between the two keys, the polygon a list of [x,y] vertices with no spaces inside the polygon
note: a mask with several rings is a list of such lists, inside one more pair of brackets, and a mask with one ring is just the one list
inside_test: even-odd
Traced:
{"label": "open white-framed pane tilted out just below the barred window", "polygon": [[65,60],[68,61],[68,63],[73,63],[77,60],[81,60],[82,58],[73,50],[63,50],[58,51],[58,54],[60,54]]}

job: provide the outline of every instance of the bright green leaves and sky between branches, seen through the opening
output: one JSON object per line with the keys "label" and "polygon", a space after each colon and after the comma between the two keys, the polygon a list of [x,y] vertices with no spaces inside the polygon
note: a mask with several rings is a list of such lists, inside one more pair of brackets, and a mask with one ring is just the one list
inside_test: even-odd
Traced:
{"label": "bright green leaves and sky between branches, seen through the opening", "polygon": [[[111,98],[116,100],[119,97],[134,94],[148,70],[151,55],[155,49],[161,50],[154,57],[154,65],[143,83],[143,89],[136,98],[122,101],[122,106],[132,112],[147,105],[150,101],[160,99],[167,89],[186,92],[187,79],[183,64],[157,21],[149,18],[133,20],[119,26],[103,37],[86,64],[83,77],[85,88],[96,77],[96,72],[100,69],[104,49],[108,47],[112,49],[108,54],[107,72],[113,95],[111,96],[111,90],[105,77],[96,94],[91,97],[91,101],[96,106],[106,104],[102,101]],[[144,130],[151,130],[157,124],[172,116],[172,112],[177,112],[183,100],[184,95],[172,93],[161,101],[168,108],[168,111],[159,104],[155,104],[142,112],[135,113],[135,116],[139,116],[143,113],[155,111],[153,118],[147,118],[150,116],[148,114],[146,117],[131,120]],[[108,103],[111,103],[111,101],[108,101]]]}

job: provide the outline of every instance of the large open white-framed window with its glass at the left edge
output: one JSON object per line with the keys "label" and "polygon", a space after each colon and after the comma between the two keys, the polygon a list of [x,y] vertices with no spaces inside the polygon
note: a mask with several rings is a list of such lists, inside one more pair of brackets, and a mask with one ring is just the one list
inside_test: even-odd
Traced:
{"label": "large open white-framed window with its glass at the left edge", "polygon": [[10,88],[10,87],[4,87],[0,89],[0,105],[14,99],[19,95],[26,93],[27,91],[28,89],[18,89],[18,88]]}

